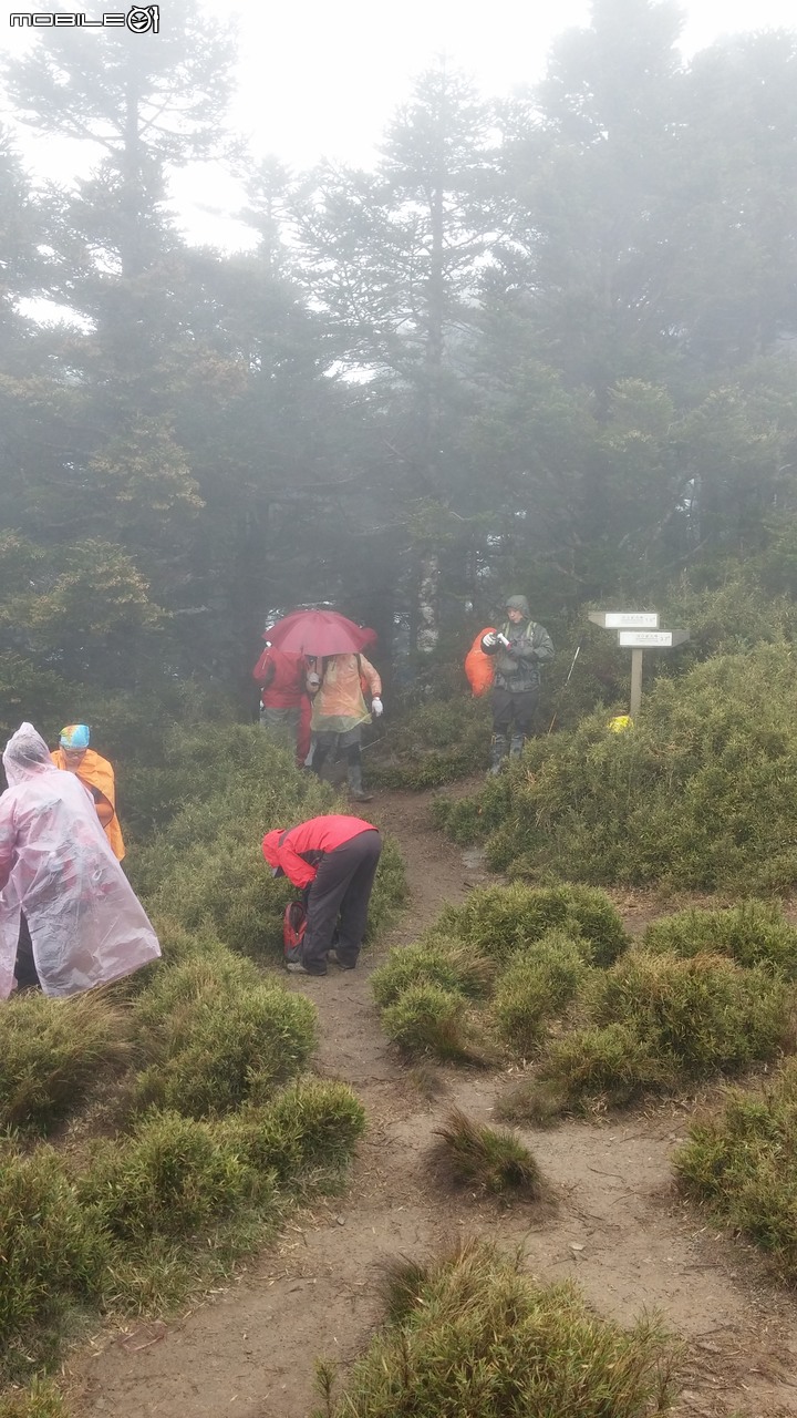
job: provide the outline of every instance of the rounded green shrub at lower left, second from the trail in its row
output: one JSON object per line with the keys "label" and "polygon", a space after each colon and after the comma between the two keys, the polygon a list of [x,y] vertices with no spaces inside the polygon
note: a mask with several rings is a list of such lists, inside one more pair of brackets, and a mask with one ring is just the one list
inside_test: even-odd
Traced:
{"label": "rounded green shrub at lower left, second from the trail in its row", "polygon": [[81,1204],[116,1241],[140,1245],[213,1231],[238,1207],[272,1191],[213,1124],[149,1113],[129,1137],[95,1143],[77,1181]]}

